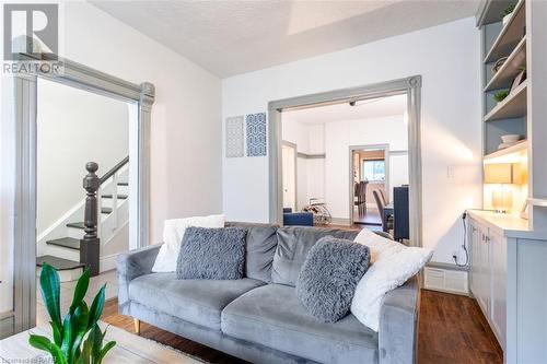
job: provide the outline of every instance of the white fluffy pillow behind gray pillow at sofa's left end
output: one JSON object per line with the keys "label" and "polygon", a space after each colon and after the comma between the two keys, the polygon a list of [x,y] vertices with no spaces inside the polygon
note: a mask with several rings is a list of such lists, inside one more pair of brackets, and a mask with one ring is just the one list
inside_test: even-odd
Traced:
{"label": "white fluffy pillow behind gray pillow at sofa's left end", "polygon": [[176,271],[176,260],[181,251],[186,227],[224,227],[224,215],[195,216],[186,219],[165,220],[163,225],[164,244],[158,253],[152,272]]}

